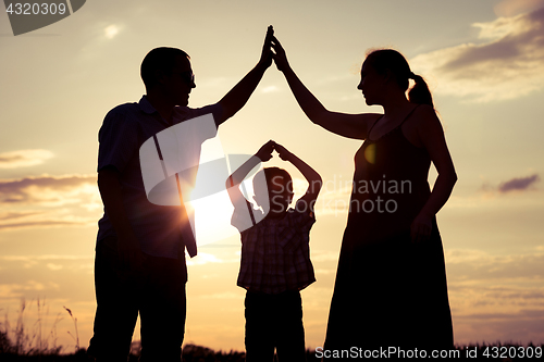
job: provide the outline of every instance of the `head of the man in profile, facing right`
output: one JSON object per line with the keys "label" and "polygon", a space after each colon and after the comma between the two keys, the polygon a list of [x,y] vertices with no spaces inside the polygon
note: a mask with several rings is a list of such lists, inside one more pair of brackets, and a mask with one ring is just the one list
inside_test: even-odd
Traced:
{"label": "head of the man in profile, facing right", "polygon": [[189,55],[177,48],[161,47],[148,52],[140,75],[148,95],[160,92],[175,105],[187,105],[188,95],[196,87]]}

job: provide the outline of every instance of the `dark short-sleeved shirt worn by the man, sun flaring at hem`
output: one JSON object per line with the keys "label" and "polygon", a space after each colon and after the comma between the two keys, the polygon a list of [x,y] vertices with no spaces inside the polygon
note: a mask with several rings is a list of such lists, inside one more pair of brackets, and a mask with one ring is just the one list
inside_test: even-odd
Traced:
{"label": "dark short-sleeved shirt worn by the man, sun flaring at hem", "polygon": [[[220,104],[200,109],[176,107],[172,116],[173,124],[169,124],[144,96],[138,103],[121,104],[111,110],[100,128],[97,171],[114,167],[119,172],[125,212],[140,242],[141,251],[149,255],[178,258],[178,253],[183,251],[180,248],[183,247],[182,209],[157,205],[148,201],[141,176],[139,149],[147,139],[161,130],[208,113],[212,113],[218,122],[222,116],[222,108]],[[199,135],[201,139],[184,149],[199,158],[201,143],[215,134],[217,127],[214,134]],[[106,212],[98,226],[97,240],[115,236]]]}

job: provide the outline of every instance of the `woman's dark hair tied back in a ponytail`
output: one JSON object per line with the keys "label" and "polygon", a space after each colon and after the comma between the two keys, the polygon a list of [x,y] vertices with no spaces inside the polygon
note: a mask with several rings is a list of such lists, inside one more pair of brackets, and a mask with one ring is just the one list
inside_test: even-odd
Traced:
{"label": "woman's dark hair tied back in a ponytail", "polygon": [[411,72],[410,65],[408,65],[404,55],[398,51],[380,49],[370,52],[362,63],[359,89],[364,91],[362,89],[363,76],[371,75],[372,73],[384,79],[393,80],[401,91],[406,91],[409,86],[409,79],[413,79],[416,84],[408,92],[408,100],[412,103],[429,104],[434,108],[433,99],[425,80]]}

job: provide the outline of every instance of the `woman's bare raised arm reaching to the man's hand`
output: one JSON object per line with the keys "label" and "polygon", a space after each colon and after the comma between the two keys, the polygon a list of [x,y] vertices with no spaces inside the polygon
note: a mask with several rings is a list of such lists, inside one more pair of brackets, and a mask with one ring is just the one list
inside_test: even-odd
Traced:
{"label": "woman's bare raised arm reaching to the man's hand", "polygon": [[346,114],[331,112],[306,88],[287,62],[287,57],[277,38],[272,37],[272,58],[289,85],[295,99],[311,122],[348,138],[366,139],[370,126],[380,116],[376,113]]}

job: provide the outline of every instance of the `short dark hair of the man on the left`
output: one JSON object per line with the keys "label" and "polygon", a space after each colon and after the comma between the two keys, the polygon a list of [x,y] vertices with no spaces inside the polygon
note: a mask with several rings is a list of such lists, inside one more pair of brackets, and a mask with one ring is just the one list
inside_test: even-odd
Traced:
{"label": "short dark hair of the man on the left", "polygon": [[157,71],[162,71],[168,75],[172,74],[172,70],[175,65],[175,59],[178,55],[190,59],[185,51],[177,48],[154,48],[147,53],[140,66],[141,80],[144,80],[146,89],[149,89],[159,83],[159,79],[157,79]]}

